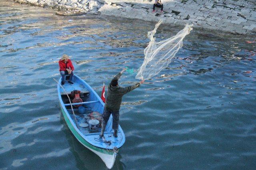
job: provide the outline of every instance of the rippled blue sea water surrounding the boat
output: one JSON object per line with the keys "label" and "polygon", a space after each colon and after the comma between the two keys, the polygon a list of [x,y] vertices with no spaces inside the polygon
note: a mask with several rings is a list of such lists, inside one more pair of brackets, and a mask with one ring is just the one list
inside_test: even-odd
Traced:
{"label": "rippled blue sea water surrounding the boat", "polygon": [[[143,62],[154,23],[0,0],[0,169],[107,169],[60,112],[58,60],[98,94]],[[158,40],[182,27],[161,25]],[[168,68],[123,98],[126,143],[113,169],[255,169],[255,37],[192,31]],[[138,82],[124,73],[121,86]]]}

